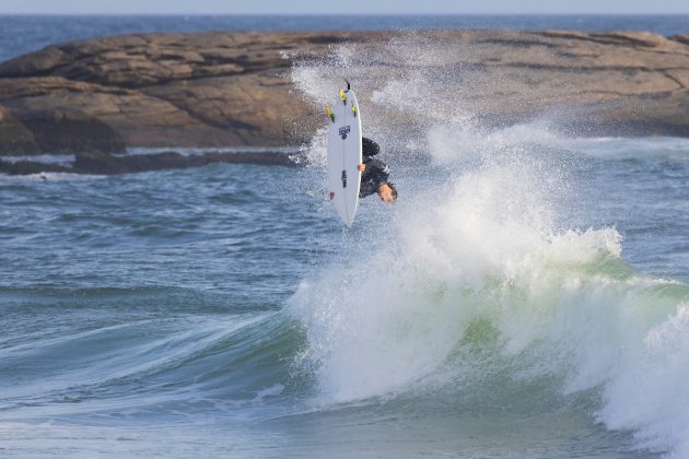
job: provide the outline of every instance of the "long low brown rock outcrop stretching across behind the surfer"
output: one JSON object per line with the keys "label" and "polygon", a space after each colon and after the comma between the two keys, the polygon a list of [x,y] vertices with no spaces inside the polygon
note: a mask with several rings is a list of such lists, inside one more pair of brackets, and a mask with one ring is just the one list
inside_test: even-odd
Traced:
{"label": "long low brown rock outcrop stretching across behind the surfer", "polygon": [[[433,59],[404,57],[413,57],[419,43],[434,50]],[[295,89],[290,72],[302,62],[325,61],[342,47],[355,48],[366,60],[359,68],[354,62],[351,73],[362,89],[360,103],[367,106],[375,105],[371,94],[381,82],[395,78],[400,66],[413,66],[452,76],[443,81],[442,91],[455,106],[490,123],[550,114],[558,127],[582,136],[689,137],[688,35],[136,34],[56,45],[0,63],[0,157],[77,153],[73,172],[103,174],[265,162],[264,156],[232,153],[205,158],[171,153],[145,160],[110,154],[130,146],[303,143],[320,126],[322,107]],[[423,50],[417,55],[423,56]],[[552,115],[558,113],[567,116]],[[406,119],[385,119],[390,130],[413,129]],[[270,161],[289,161],[278,156]],[[32,167],[39,168],[0,163],[0,172],[13,174]]]}

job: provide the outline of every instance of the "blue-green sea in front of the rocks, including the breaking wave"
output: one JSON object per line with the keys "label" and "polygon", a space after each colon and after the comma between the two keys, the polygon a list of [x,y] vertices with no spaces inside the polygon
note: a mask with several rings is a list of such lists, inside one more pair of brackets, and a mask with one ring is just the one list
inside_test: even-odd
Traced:
{"label": "blue-green sea in front of the rocks, including the breaking wave", "polygon": [[490,130],[348,45],[295,94],[344,67],[399,189],[349,229],[325,119],[303,167],[0,175],[0,456],[689,456],[689,140]]}

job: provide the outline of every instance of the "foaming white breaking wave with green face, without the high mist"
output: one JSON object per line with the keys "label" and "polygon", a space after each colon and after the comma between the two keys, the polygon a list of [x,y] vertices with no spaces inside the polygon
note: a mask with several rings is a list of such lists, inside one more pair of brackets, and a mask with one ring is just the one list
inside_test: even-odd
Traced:
{"label": "foaming white breaking wave with green face, without the high mist", "polygon": [[498,365],[564,395],[597,389],[609,428],[689,451],[689,285],[627,263],[612,227],[551,227],[524,174],[491,166],[454,177],[442,202],[406,198],[375,249],[302,283],[291,313],[322,396],[460,392]]}

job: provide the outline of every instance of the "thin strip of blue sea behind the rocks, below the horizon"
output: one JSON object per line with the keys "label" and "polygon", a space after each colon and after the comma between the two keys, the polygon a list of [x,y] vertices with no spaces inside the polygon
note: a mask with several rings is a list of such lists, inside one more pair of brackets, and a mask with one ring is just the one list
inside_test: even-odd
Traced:
{"label": "thin strip of blue sea behind the rocks, below the horizon", "polygon": [[209,31],[404,31],[422,28],[646,31],[687,34],[689,14],[674,15],[0,15],[0,60],[103,35]]}

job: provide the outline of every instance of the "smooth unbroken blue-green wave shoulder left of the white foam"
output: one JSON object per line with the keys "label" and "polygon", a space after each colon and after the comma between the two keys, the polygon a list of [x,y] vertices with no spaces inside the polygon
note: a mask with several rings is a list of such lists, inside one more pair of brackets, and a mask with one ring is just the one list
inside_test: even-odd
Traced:
{"label": "smooth unbroken blue-green wave shoulder left of the white foam", "polygon": [[[92,319],[84,325],[82,316]],[[212,408],[246,420],[279,413],[284,397],[303,390],[289,364],[303,334],[281,313],[59,317],[0,343],[0,368],[11,368],[0,385],[3,419],[161,422]]]}

